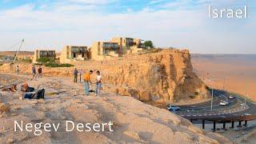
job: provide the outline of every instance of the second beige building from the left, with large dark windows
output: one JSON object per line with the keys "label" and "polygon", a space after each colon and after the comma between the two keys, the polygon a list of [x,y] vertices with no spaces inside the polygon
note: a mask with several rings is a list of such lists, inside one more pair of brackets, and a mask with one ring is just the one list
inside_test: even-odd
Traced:
{"label": "second beige building from the left, with large dark windows", "polygon": [[89,58],[87,46],[64,46],[59,57],[61,63],[84,61]]}

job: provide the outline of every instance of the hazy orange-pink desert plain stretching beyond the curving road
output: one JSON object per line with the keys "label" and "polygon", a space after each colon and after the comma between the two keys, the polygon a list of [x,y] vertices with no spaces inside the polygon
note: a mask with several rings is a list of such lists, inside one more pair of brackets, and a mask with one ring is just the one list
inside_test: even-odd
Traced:
{"label": "hazy orange-pink desert plain stretching beyond the curving road", "polygon": [[210,86],[256,100],[256,54],[192,54],[192,63]]}

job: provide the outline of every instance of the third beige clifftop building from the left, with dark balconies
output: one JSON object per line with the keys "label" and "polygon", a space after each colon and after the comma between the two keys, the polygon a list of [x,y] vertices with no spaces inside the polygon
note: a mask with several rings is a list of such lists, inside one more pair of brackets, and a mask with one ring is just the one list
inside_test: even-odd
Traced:
{"label": "third beige clifftop building from the left, with dark balconies", "polygon": [[103,60],[119,56],[118,42],[94,42],[90,49],[91,59]]}

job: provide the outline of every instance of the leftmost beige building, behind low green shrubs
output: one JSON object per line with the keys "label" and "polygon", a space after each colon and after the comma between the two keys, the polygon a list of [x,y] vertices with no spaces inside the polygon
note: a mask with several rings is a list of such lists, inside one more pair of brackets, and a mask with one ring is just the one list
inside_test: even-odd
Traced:
{"label": "leftmost beige building, behind low green shrubs", "polygon": [[55,50],[34,50],[33,63],[37,63],[40,58],[49,58],[55,60]]}

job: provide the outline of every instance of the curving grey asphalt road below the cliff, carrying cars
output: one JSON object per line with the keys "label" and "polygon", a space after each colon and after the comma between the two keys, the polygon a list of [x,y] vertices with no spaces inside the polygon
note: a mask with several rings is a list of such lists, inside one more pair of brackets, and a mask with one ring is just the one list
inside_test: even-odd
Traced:
{"label": "curving grey asphalt road below the cliff, carrying cars", "polygon": [[[230,99],[232,95],[234,98]],[[228,101],[228,106],[220,106],[222,101]],[[238,94],[231,94],[224,90],[214,90],[213,109],[211,110],[211,102],[202,102],[194,105],[179,106],[181,110],[174,112],[188,119],[231,119],[231,118],[243,118],[244,116],[256,117],[256,105],[253,102],[246,102]]]}

